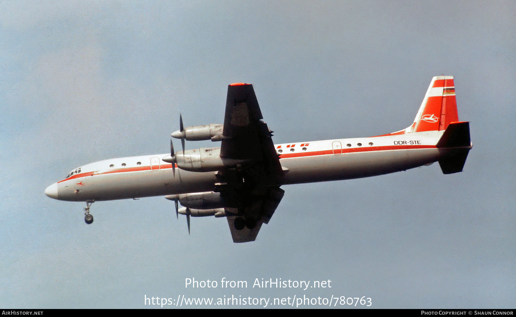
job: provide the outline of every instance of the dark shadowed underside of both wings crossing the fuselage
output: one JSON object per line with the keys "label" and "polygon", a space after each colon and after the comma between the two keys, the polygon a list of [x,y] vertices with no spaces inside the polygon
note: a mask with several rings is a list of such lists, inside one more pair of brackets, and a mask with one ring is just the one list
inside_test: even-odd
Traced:
{"label": "dark shadowed underside of both wings crossing the fuselage", "polygon": [[284,194],[279,187],[284,172],[262,118],[252,85],[228,86],[220,156],[243,163],[219,172],[218,178],[223,184],[219,191],[238,206],[238,214],[227,217],[234,242],[254,241]]}

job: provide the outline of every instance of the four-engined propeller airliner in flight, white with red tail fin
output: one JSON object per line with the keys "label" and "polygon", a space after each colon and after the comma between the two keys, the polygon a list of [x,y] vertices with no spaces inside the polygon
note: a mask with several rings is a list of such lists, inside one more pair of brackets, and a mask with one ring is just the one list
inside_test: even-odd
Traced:
{"label": "four-engined propeller airliner in flight, white with red tail fin", "polygon": [[[347,139],[273,144],[253,86],[228,85],[224,123],[183,127],[171,137],[182,151],[121,157],[75,168],[46,188],[65,201],[165,196],[176,217],[225,217],[234,242],[254,241],[284,195],[283,185],[348,180],[439,162],[444,174],[461,172],[472,149],[468,121],[459,121],[453,76],[433,77],[413,123],[393,133]],[[185,150],[185,140],[220,147]],[[182,208],[179,208],[179,204]]]}

